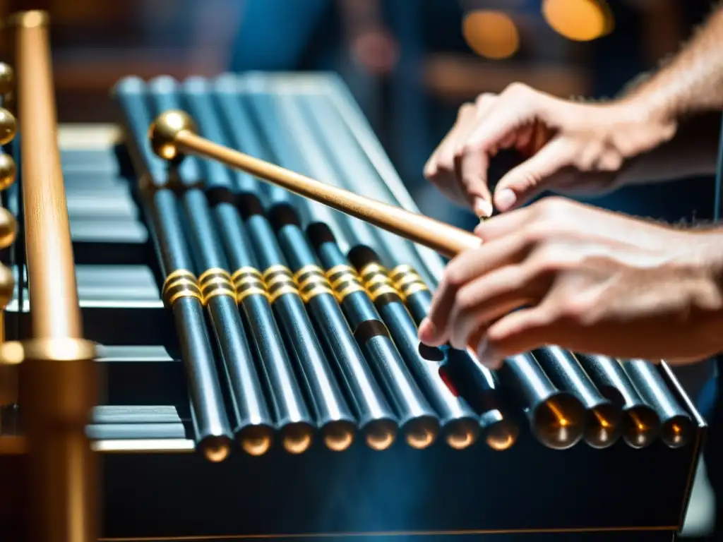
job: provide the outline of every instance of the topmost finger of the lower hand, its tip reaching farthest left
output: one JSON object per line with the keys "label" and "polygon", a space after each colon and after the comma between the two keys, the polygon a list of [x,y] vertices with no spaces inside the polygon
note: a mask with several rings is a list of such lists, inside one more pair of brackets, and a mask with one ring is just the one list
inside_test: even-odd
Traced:
{"label": "topmost finger of the lower hand, its tip reaching farthest left", "polygon": [[526,239],[510,236],[497,243],[464,251],[446,267],[437,287],[427,318],[419,325],[419,340],[430,346],[439,346],[449,337],[450,312],[458,291],[471,280],[487,275],[497,267],[521,262],[526,256]]}

